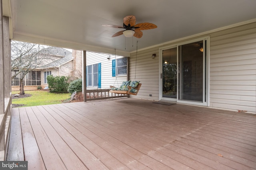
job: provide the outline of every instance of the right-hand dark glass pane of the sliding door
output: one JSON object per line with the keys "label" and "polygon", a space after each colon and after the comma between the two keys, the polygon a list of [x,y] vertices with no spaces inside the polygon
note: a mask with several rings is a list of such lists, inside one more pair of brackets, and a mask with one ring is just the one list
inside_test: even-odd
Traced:
{"label": "right-hand dark glass pane of the sliding door", "polygon": [[203,41],[179,46],[179,100],[203,102]]}

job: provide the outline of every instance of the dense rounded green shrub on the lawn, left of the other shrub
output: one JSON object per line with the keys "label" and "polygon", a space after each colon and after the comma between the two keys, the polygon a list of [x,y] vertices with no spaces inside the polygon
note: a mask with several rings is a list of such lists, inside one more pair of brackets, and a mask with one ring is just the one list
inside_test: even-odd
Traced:
{"label": "dense rounded green shrub on the lawn, left of the other shrub", "polygon": [[68,93],[68,76],[47,76],[48,88],[51,93]]}

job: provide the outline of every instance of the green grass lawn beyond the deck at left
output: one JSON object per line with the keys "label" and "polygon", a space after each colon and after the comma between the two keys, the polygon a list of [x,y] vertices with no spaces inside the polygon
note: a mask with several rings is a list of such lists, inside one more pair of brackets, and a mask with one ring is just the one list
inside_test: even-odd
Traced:
{"label": "green grass lawn beyond the deck at left", "polygon": [[[19,91],[12,91],[12,94],[18,93]],[[70,93],[55,94],[43,90],[28,90],[25,91],[26,95],[28,97],[24,97],[23,95],[13,97],[12,104],[17,104],[19,107],[60,104],[62,101],[70,98]]]}

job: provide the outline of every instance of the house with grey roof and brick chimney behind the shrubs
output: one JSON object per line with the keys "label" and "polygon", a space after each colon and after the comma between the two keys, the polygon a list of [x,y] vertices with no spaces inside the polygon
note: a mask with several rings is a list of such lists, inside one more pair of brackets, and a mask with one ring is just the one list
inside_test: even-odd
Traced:
{"label": "house with grey roof and brick chimney behind the shrubs", "polygon": [[[24,89],[32,90],[38,86],[48,86],[47,76],[70,76],[72,79],[82,78],[82,51],[72,52],[60,47],[48,47],[49,61],[44,61],[39,68],[28,72],[24,78]],[[12,70],[12,75],[17,70]],[[19,90],[20,74],[12,79],[12,90]]]}

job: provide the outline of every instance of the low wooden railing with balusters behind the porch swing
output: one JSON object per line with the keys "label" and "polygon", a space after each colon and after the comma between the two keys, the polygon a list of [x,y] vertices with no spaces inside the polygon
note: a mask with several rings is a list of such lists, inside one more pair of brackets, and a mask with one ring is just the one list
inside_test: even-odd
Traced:
{"label": "low wooden railing with balusters behind the porch swing", "polygon": [[86,101],[128,97],[127,94],[110,93],[109,90],[110,89],[86,90]]}

